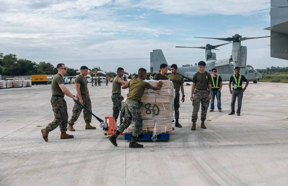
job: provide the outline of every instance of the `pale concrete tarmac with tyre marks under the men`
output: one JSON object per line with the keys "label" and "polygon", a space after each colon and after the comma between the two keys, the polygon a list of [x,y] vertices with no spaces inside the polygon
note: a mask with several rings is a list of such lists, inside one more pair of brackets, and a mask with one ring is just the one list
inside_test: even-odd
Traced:
{"label": "pale concrete tarmac with tyre marks under the men", "polygon": [[[112,83],[88,85],[92,112],[103,120],[111,116]],[[73,84],[66,87],[76,95]],[[184,90],[182,128],[169,141],[139,141],[144,148],[129,149],[124,136],[118,147],[103,138],[94,117],[96,130],[85,130],[83,114],[76,131],[67,131],[73,139],[60,139],[58,127],[45,142],[40,130],[54,119],[51,85],[1,89],[0,185],[288,185],[288,84],[250,82],[237,116],[228,115],[224,82],[222,112],[209,107],[202,129],[199,111],[195,131],[191,85],[185,82]],[[74,103],[65,100],[70,119]]]}

